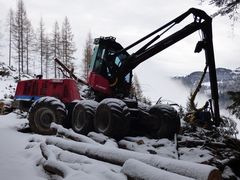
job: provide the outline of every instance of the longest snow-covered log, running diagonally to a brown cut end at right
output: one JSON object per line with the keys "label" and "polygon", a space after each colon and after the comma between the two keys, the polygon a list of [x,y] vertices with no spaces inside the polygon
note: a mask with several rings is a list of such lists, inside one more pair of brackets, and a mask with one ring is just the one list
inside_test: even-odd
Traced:
{"label": "longest snow-covered log, running diagonally to a brown cut end at right", "polygon": [[160,157],[159,155],[143,154],[124,149],[110,149],[108,147],[87,143],[70,142],[57,137],[47,138],[46,143],[55,145],[63,150],[68,150],[112,164],[123,165],[128,159],[136,159],[154,167],[195,179],[221,179],[219,170],[209,165],[169,159]]}

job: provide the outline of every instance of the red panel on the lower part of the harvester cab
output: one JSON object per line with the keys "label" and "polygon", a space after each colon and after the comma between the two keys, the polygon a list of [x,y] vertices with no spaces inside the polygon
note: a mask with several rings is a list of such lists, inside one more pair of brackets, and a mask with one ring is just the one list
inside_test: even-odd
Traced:
{"label": "red panel on the lower part of the harvester cab", "polygon": [[101,92],[106,95],[111,94],[108,80],[95,72],[90,72],[88,76],[88,84],[97,92]]}

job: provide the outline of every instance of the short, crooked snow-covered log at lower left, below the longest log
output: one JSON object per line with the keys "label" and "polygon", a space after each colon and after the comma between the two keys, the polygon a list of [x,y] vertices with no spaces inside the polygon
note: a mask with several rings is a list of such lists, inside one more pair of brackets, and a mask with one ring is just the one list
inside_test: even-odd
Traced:
{"label": "short, crooked snow-covered log at lower left, below the longest log", "polygon": [[47,148],[45,143],[40,144],[40,149],[43,157],[46,159],[46,161],[43,163],[44,170],[53,174],[57,174],[63,178],[70,174],[71,169],[64,163],[56,160],[55,154],[49,148]]}

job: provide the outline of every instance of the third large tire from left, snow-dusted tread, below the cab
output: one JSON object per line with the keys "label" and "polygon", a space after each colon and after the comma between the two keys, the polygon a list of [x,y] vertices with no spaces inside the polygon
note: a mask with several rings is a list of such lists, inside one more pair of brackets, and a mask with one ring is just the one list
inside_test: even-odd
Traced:
{"label": "third large tire from left, snow-dusted tread, below the cab", "polygon": [[128,107],[123,101],[104,99],[97,107],[94,127],[96,131],[107,136],[122,138],[129,132],[129,115]]}

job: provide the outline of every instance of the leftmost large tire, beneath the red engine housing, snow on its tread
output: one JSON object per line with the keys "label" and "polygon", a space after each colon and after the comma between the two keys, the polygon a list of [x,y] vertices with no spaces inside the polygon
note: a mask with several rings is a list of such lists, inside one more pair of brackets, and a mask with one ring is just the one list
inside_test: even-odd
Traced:
{"label": "leftmost large tire, beneath the red engine housing, snow on its tread", "polygon": [[33,132],[38,134],[54,134],[55,131],[50,128],[51,123],[62,125],[65,118],[65,105],[54,97],[42,97],[29,109],[29,126]]}

